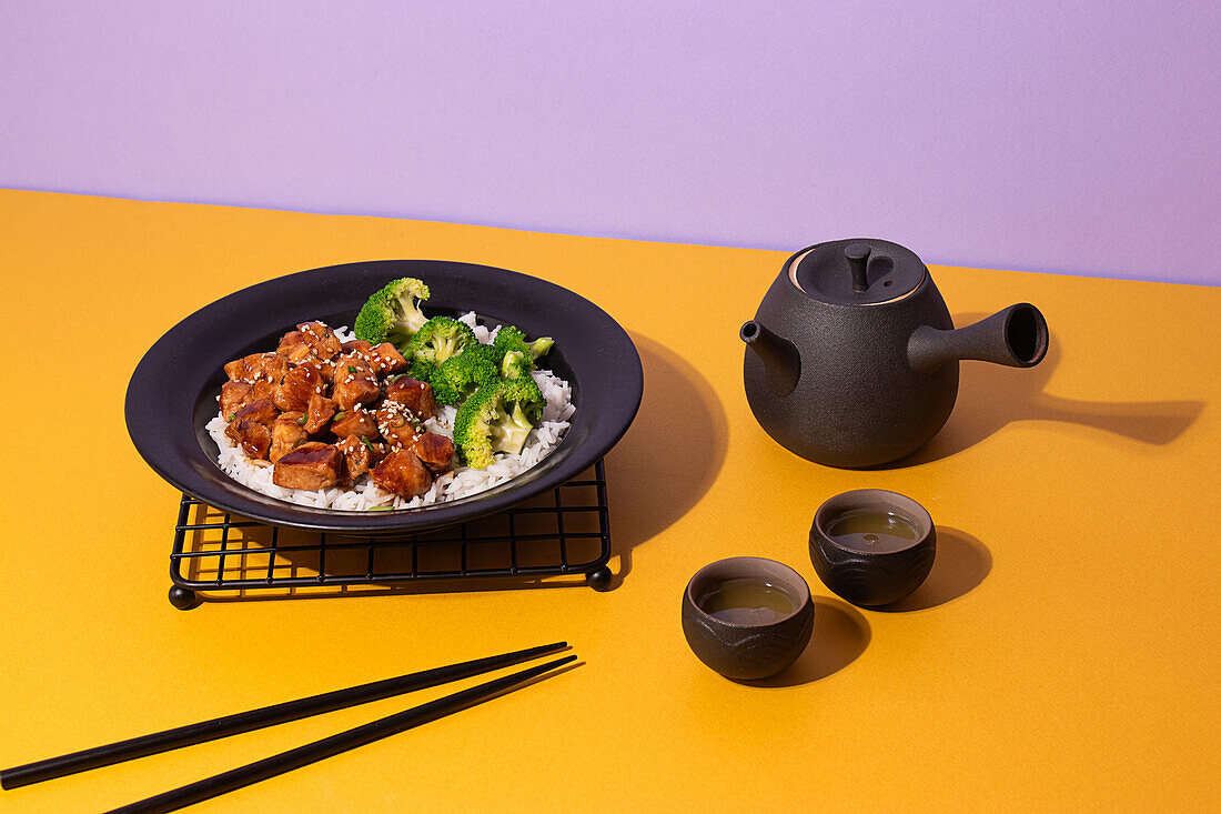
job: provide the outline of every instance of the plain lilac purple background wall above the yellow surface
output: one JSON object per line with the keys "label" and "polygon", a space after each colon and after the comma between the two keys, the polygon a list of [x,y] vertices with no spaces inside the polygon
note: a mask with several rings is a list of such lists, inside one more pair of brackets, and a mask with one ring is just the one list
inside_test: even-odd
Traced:
{"label": "plain lilac purple background wall above the yellow surface", "polygon": [[1221,2],[6,2],[0,186],[1221,285]]}

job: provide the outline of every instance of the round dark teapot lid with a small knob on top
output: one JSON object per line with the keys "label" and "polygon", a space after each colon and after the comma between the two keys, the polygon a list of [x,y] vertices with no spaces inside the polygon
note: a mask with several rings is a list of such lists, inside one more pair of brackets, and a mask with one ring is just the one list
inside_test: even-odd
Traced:
{"label": "round dark teapot lid with a small knob on top", "polygon": [[873,237],[818,243],[785,265],[792,284],[808,296],[841,306],[899,299],[928,275],[915,252]]}

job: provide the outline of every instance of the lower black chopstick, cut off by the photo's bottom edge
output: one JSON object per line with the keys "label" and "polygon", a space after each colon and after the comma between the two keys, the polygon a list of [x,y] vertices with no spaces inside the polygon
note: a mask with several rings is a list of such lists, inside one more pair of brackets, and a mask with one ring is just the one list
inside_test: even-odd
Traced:
{"label": "lower black chopstick, cut off by the photo's bottom edge", "polygon": [[286,771],[299,769],[317,760],[322,760],[324,758],[339,754],[341,752],[347,752],[348,749],[372,743],[374,741],[379,741],[391,735],[398,735],[399,732],[409,730],[414,726],[427,724],[429,721],[435,721],[438,717],[444,717],[452,713],[474,706],[475,704],[495,698],[496,695],[516,689],[532,678],[537,678],[546,672],[574,661],[575,659],[575,655],[567,655],[563,659],[556,659],[554,661],[548,661],[547,664],[529,667],[527,670],[521,670],[520,672],[515,672],[502,678],[493,678],[492,681],[471,687],[470,689],[463,689],[462,692],[446,695],[444,698],[438,698],[437,700],[429,702],[427,704],[413,706],[411,709],[402,713],[396,713],[394,715],[388,715],[346,732],[332,735],[331,737],[322,738],[321,741],[306,743],[305,746],[297,747],[295,749],[281,752],[280,754],[271,755],[270,758],[264,758],[263,760],[256,760],[244,766],[231,769],[230,771],[205,777],[204,780],[198,780],[187,786],[156,794],[155,797],[148,797],[139,802],[116,808],[110,814],[117,814],[120,812],[122,814],[136,814],[137,812],[172,812],[184,805],[190,805],[210,797],[216,797],[236,788],[256,783],[260,780],[266,780],[267,777],[275,777],[276,775],[281,775]]}

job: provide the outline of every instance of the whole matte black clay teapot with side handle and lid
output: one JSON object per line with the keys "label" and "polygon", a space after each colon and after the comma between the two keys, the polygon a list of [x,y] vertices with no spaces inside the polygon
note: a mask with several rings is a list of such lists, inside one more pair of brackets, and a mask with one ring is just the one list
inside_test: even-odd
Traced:
{"label": "whole matte black clay teapot with side handle and lid", "polygon": [[954,409],[960,359],[1029,368],[1048,351],[1048,324],[1029,303],[955,330],[924,263],[873,238],[790,257],[740,335],[746,398],[768,435],[849,468],[932,439]]}

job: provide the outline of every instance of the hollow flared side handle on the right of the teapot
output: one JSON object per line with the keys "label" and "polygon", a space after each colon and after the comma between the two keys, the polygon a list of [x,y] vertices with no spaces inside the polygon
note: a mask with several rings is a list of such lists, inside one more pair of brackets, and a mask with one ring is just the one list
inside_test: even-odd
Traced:
{"label": "hollow flared side handle on the right of the teapot", "polygon": [[1046,356],[1048,339],[1043,314],[1031,303],[1021,302],[957,330],[917,328],[907,342],[907,359],[913,370],[926,375],[956,359],[1033,368]]}

